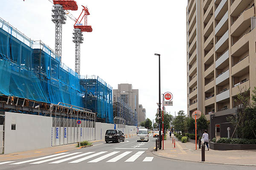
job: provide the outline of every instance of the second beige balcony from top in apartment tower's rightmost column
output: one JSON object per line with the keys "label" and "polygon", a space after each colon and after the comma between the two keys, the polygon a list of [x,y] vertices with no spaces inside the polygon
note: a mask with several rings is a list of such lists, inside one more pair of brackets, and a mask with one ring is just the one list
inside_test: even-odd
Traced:
{"label": "second beige balcony from top in apartment tower's rightmost column", "polygon": [[231,35],[238,37],[251,25],[250,17],[254,16],[254,6],[242,12],[230,28]]}

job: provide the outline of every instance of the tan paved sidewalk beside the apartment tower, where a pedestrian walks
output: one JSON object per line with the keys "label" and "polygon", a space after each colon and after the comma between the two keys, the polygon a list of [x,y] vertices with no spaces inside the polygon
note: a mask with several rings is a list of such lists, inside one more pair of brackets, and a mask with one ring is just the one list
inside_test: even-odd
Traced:
{"label": "tan paved sidewalk beside the apartment tower, where a pedestrian walks", "polygon": [[[172,139],[167,137],[164,141],[164,150],[153,151],[156,156],[183,161],[201,161],[201,149],[195,150],[195,140],[189,139],[182,143],[175,136],[176,147]],[[205,163],[250,165],[256,166],[256,150],[205,150]]]}

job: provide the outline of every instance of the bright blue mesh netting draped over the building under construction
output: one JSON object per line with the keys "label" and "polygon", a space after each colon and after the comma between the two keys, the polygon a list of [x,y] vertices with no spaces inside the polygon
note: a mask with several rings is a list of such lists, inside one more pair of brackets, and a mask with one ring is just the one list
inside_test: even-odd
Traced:
{"label": "bright blue mesh netting draped over the building under construction", "polygon": [[0,18],[0,94],[88,108],[84,96],[91,93],[96,104],[88,109],[113,123],[112,87],[96,77],[97,86],[89,91],[80,77],[47,45],[30,40]]}

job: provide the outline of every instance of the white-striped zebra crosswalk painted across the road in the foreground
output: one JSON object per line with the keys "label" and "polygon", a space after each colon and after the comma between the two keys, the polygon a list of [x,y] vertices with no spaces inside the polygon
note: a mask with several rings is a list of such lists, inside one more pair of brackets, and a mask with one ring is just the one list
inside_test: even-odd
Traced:
{"label": "white-striped zebra crosswalk painted across the road in the foreground", "polygon": [[[36,159],[29,159],[25,161],[5,161],[0,162],[0,165],[2,164],[9,164],[9,165],[19,165],[19,164],[59,164],[59,163],[79,163],[79,162],[87,162],[87,163],[97,163],[97,162],[116,162],[116,161],[124,161],[124,162],[134,162],[136,161],[140,156],[143,160],[143,162],[151,162],[154,157],[144,157],[143,153],[145,151],[101,151],[101,152],[75,152],[75,153],[58,153],[54,155],[49,156],[43,156]],[[114,156],[114,157],[113,157]]]}

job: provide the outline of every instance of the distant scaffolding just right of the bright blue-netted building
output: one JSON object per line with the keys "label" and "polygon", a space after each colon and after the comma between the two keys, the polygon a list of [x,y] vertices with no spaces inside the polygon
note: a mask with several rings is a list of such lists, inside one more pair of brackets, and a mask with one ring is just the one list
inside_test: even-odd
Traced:
{"label": "distant scaffolding just right of the bright blue-netted building", "polygon": [[125,120],[125,125],[137,126],[137,112],[124,102],[120,97],[114,96],[113,115]]}

